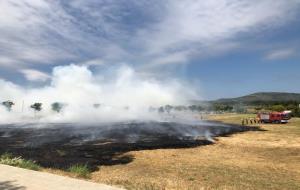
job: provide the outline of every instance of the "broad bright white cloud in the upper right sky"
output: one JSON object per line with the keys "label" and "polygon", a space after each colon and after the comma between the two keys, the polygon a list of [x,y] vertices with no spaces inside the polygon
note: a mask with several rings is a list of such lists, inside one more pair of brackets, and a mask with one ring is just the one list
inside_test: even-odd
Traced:
{"label": "broad bright white cloud in the upper right sky", "polygon": [[174,0],[169,2],[166,17],[151,29],[142,29],[140,38],[146,39],[147,53],[154,56],[195,49],[201,52],[207,47],[213,50],[240,34],[288,22],[298,7],[297,0]]}

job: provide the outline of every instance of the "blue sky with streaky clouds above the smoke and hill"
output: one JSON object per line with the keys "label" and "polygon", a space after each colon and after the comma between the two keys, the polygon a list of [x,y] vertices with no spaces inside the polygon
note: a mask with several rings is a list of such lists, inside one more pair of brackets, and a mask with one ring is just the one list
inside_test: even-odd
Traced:
{"label": "blue sky with streaky clouds above the smoke and hill", "polygon": [[202,99],[300,92],[300,0],[1,0],[0,79],[129,65]]}

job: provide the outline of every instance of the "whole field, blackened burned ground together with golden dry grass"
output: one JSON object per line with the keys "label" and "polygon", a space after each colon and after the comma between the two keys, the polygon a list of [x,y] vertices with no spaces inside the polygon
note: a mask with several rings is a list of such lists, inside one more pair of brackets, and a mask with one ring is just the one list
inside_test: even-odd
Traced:
{"label": "whole field, blackened burned ground together with golden dry grass", "polygon": [[[245,117],[207,119],[238,124]],[[91,181],[126,189],[299,189],[299,118],[251,127],[219,122],[2,125],[0,154],[72,177],[70,166],[87,164]]]}

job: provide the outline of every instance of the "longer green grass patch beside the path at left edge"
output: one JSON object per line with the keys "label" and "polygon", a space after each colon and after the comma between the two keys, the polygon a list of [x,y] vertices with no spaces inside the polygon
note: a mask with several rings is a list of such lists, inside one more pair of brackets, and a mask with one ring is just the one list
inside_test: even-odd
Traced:
{"label": "longer green grass patch beside the path at left edge", "polygon": [[19,168],[25,168],[30,170],[40,170],[40,166],[33,160],[26,160],[22,157],[14,157],[10,153],[4,153],[0,156],[0,164],[15,166]]}

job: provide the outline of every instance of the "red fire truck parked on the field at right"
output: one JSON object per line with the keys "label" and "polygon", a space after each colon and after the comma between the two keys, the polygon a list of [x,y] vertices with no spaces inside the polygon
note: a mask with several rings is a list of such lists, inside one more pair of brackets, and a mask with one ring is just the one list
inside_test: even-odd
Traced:
{"label": "red fire truck parked on the field at right", "polygon": [[257,118],[262,123],[287,123],[290,117],[290,111],[259,113]]}

